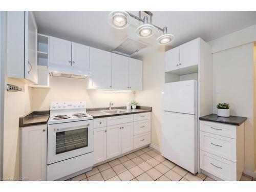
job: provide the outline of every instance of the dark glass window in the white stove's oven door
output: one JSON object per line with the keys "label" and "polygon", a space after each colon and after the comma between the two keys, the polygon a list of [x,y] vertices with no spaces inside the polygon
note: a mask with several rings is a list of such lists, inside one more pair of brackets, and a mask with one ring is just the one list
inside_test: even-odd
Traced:
{"label": "dark glass window in the white stove's oven door", "polygon": [[88,128],[56,133],[56,155],[88,146]]}

